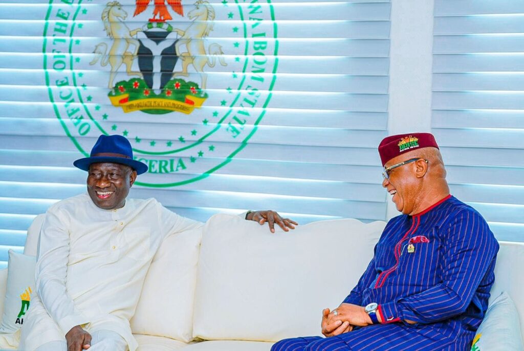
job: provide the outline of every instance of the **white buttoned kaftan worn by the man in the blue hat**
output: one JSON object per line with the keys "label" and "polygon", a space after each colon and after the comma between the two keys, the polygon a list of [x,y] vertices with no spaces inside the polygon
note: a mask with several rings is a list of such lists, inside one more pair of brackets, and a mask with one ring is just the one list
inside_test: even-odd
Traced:
{"label": "white buttoned kaftan worn by the man in the blue hat", "polygon": [[[135,351],[129,320],[162,240],[203,224],[155,199],[126,199],[104,210],[87,193],[49,208],[40,232],[31,301],[20,349],[64,338],[75,325],[114,331]],[[56,321],[56,323],[55,323]]]}

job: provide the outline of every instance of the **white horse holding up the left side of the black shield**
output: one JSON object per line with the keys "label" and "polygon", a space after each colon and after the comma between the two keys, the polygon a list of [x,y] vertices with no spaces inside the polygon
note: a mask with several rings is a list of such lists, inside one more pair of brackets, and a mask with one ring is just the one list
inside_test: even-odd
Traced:
{"label": "white horse holding up the left side of the black shield", "polygon": [[[102,12],[102,20],[107,36],[114,39],[113,46],[109,50],[109,53],[107,53],[107,44],[105,44],[105,42],[98,44],[93,51],[95,57],[89,63],[90,65],[94,65],[102,58],[100,62],[102,66],[106,66],[107,63],[111,65],[109,88],[113,88],[116,72],[120,66],[122,66],[122,63],[126,65],[126,72],[129,76],[142,77],[142,73],[131,70],[133,60],[138,53],[138,47],[140,45],[140,42],[134,39],[133,36],[139,31],[142,31],[142,29],[136,28],[129,30],[123,22],[126,17],[127,12],[125,12],[119,2],[112,1],[107,3],[107,6]],[[129,46],[134,46],[133,51],[128,51]]]}

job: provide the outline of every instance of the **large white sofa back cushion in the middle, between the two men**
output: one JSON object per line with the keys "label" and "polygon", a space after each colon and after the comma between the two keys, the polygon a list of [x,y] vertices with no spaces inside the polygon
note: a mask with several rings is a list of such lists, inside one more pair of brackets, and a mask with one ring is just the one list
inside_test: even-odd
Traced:
{"label": "large white sofa back cushion in the middle, between the two men", "polygon": [[237,216],[213,216],[202,237],[193,335],[251,341],[319,335],[322,309],[350,293],[384,226],[340,219],[272,234]]}

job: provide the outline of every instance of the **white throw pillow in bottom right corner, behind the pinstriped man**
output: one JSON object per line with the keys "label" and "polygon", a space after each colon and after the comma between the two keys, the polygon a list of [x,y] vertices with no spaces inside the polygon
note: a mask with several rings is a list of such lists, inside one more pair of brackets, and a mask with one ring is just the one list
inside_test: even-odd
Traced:
{"label": "white throw pillow in bottom right corner, behind the pinstriped man", "polygon": [[[521,297],[521,296],[519,296]],[[506,292],[489,305],[477,329],[471,351],[524,351],[515,304]]]}

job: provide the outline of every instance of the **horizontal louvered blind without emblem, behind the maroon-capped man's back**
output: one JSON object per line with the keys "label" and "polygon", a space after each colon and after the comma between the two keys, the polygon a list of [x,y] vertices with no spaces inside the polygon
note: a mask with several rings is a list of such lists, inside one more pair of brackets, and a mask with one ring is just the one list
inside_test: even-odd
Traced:
{"label": "horizontal louvered blind without emblem, behind the maroon-capped man's back", "polygon": [[432,130],[452,194],[524,241],[524,2],[435,0]]}

